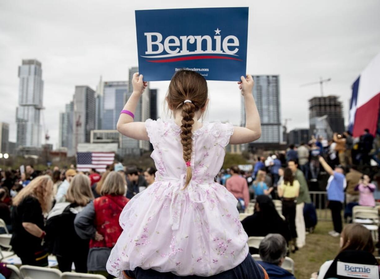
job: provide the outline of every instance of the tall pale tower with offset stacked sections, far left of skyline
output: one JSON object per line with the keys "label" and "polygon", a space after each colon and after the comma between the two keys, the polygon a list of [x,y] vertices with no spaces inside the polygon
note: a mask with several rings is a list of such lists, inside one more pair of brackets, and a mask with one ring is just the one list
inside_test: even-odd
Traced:
{"label": "tall pale tower with offset stacked sections, far left of skyline", "polygon": [[19,66],[19,106],[16,108],[18,147],[40,147],[40,112],[43,109],[43,80],[38,60],[22,60]]}

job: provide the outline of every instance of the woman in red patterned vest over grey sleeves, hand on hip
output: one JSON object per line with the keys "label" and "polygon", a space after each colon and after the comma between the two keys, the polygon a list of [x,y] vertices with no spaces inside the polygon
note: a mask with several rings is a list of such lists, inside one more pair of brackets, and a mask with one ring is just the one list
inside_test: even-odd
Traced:
{"label": "woman in red patterned vest over grey sleeves, hand on hip", "polygon": [[[109,276],[106,263],[122,228],[120,213],[129,199],[125,197],[125,178],[121,173],[109,172],[101,186],[101,197],[90,202],[75,218],[78,235],[90,240],[87,268],[90,273]],[[113,278],[113,277],[112,277]]]}

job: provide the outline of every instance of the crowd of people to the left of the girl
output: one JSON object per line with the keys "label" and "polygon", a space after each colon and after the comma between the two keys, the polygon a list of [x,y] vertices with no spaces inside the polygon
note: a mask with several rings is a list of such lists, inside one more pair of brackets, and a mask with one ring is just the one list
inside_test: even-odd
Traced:
{"label": "crowd of people to the left of the girl", "polygon": [[120,213],[154,182],[156,169],[125,168],[118,162],[104,173],[71,167],[3,171],[0,219],[12,233],[11,245],[22,264],[47,266],[53,254],[62,272],[71,271],[74,263],[76,272],[111,278],[106,262],[122,232]]}

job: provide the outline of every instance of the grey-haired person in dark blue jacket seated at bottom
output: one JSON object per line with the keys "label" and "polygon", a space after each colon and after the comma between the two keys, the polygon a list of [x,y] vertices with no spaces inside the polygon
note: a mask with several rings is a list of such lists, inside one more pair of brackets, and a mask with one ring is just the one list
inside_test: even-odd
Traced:
{"label": "grey-haired person in dark blue jacket seated at bottom", "polygon": [[269,279],[295,279],[294,275],[281,267],[287,253],[285,238],[278,233],[270,233],[260,243],[260,264],[268,273]]}

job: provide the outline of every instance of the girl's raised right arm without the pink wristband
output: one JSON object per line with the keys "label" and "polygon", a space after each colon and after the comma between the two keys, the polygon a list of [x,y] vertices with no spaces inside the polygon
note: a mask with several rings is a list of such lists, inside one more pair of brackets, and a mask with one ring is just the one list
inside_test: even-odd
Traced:
{"label": "girl's raised right arm without the pink wristband", "polygon": [[230,144],[250,143],[261,137],[260,115],[252,95],[253,85],[255,84],[252,76],[247,75],[246,78],[242,76],[238,84],[244,97],[245,127],[234,127]]}

